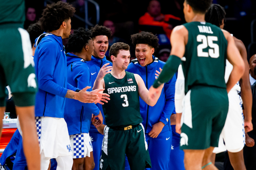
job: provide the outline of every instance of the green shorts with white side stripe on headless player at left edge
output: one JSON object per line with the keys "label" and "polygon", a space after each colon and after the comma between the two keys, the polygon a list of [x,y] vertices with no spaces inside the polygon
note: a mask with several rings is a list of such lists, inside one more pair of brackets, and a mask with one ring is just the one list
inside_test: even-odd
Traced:
{"label": "green shorts with white side stripe on headless player at left edge", "polygon": [[0,107],[7,85],[16,106],[33,106],[37,84],[29,35],[18,24],[2,24],[0,39]]}

